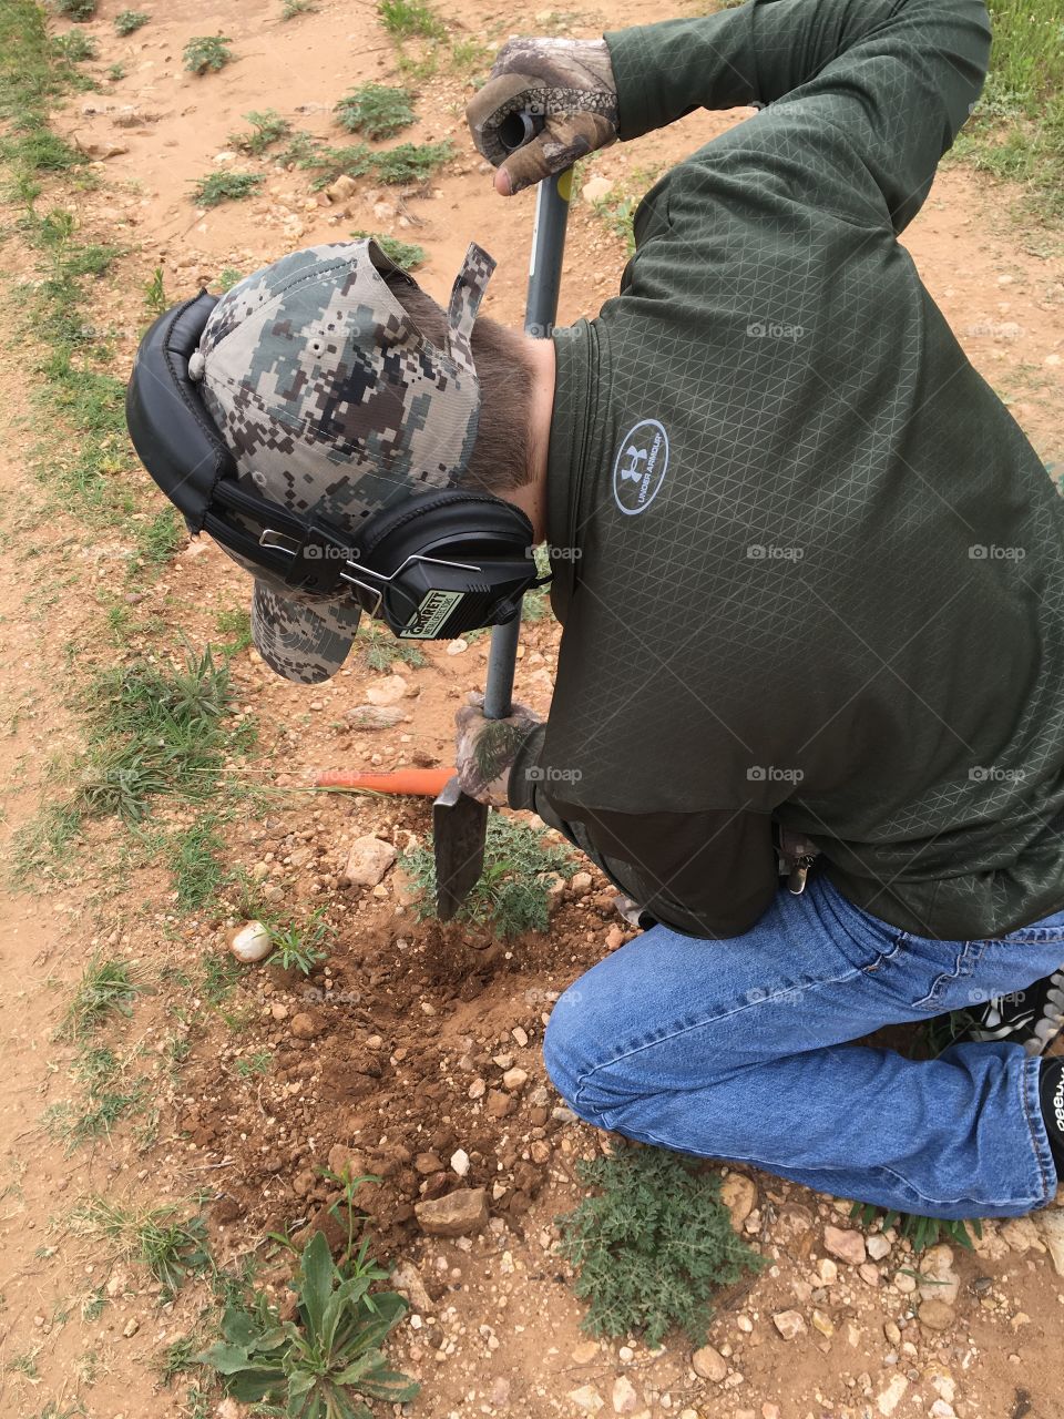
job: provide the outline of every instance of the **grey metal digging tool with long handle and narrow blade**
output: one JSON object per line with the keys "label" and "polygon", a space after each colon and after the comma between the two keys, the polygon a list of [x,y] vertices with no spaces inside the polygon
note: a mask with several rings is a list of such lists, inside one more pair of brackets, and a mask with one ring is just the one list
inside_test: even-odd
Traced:
{"label": "grey metal digging tool with long handle and narrow blade", "polygon": [[[514,150],[535,136],[542,126],[526,114],[515,114],[516,132],[506,146]],[[565,228],[569,219],[572,167],[548,177],[536,189],[536,214],[532,230],[532,261],[528,271],[525,333],[549,339],[558,314],[558,289],[562,284]],[[514,667],[521,634],[521,607],[516,616],[491,633],[488,681],[484,687],[484,715],[505,719],[514,695]],[[477,885],[484,870],[484,840],[488,832],[488,806],[462,793],[458,779],[448,780],[433,803],[436,841],[436,914],[450,921]]]}

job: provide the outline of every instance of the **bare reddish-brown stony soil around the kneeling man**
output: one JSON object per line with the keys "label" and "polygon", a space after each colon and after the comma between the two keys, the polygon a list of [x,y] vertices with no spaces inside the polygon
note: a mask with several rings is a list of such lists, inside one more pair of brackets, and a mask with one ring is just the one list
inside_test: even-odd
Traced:
{"label": "bare reddish-brown stony soil around the kneeling man", "polygon": [[[213,284],[227,267],[247,272],[285,250],[355,228],[423,244],[428,261],[420,278],[436,295],[444,294],[475,237],[502,258],[491,314],[519,319],[531,199],[504,203],[494,196],[462,135],[468,84],[450,71],[420,84],[420,112],[431,104],[438,119],[423,116],[409,136],[450,135],[462,156],[424,193],[372,190],[363,182],[339,210],[321,204],[306,173],[241,159],[233,166],[267,175],[260,197],[206,214],[189,200],[189,183],[228,150],[227,135],[245,126],[241,115],[248,109],[274,106],[297,126],[345,142],[331,121],[335,101],[360,79],[394,75],[393,50],[367,0],[323,3],[289,24],[278,21],[279,6],[272,3],[194,0],[176,16],[159,10],[128,40],[113,34],[121,7],[105,0],[85,28],[99,44],[94,71],[102,75],[121,61],[128,77],[75,98],[58,119],[84,145],[123,149],[96,163],[99,187],[77,200],[85,238],[131,247],[121,278],[101,289],[96,312],[115,333],[118,368],[132,356],[143,325],[143,285],[156,265],[176,299],[199,282]],[[658,0],[623,3],[573,17],[569,33],[599,34],[603,26],[667,14]],[[546,16],[536,20],[546,23]],[[460,17],[448,14],[448,23],[455,33],[491,40],[505,35],[511,17],[474,0]],[[233,35],[238,62],[201,79],[186,74],[182,45],[217,31]],[[674,162],[741,118],[692,115],[668,133],[602,155],[593,170],[620,190],[626,180],[640,182],[633,175]],[[1054,461],[1064,455],[1064,271],[1047,237],[1024,236],[1012,224],[1010,200],[965,170],[945,170],[907,244],[977,366],[1010,399],[1044,458]],[[14,275],[28,270],[16,241],[6,250]],[[616,289],[623,261],[621,243],[586,203],[577,204],[560,318],[593,314]],[[6,322],[0,773],[9,788],[0,832],[10,837],[57,792],[45,765],[52,756],[70,758],[77,745],[84,673],[112,660],[169,654],[179,634],[196,646],[223,640],[217,614],[244,606],[247,585],[217,549],[192,545],[136,593],[129,643],[108,643],[94,587],[119,585],[122,534],[85,536],[77,524],[54,514],[43,518],[24,505],[23,468],[34,441],[26,423],[27,356],[16,333],[17,311],[9,309]],[[129,477],[142,478],[132,470]],[[30,531],[45,553],[44,576],[13,552]],[[72,673],[68,644],[77,648]],[[553,623],[526,627],[516,694],[541,714],[550,700],[556,648]],[[539,1044],[556,993],[621,939],[611,893],[600,878],[566,887],[549,937],[499,944],[488,927],[440,928],[419,921],[394,874],[376,891],[340,883],[355,837],[376,833],[407,849],[430,827],[427,806],[305,792],[325,768],[448,763],[454,710],[467,690],[482,684],[485,657],[481,639],[457,656],[430,647],[423,668],[397,667],[411,691],[403,701],[406,718],[382,731],[355,729],[348,721],[380,678],[356,656],[314,690],[275,678],[254,651],[234,658],[237,704],[260,729],[260,749],[238,772],[253,775],[270,796],[264,810],[248,809],[231,827],[228,863],[251,877],[264,864],[261,887],[275,910],[297,917],[323,910],[335,944],[328,969],[308,979],[268,966],[248,972],[223,1000],[193,988],[177,1002],[186,1007],[182,1023],[173,1009],[174,973],[200,981],[204,958],[223,955],[234,895],[210,911],[179,914],[169,877],[145,854],[122,856],[128,836],[112,823],[88,829],[38,895],[4,897],[0,972],[9,1029],[0,1039],[0,1067],[9,1087],[0,1115],[0,1362],[7,1369],[0,1375],[0,1412],[37,1416],[48,1413],[48,1403],[55,1419],[67,1412],[94,1419],[192,1412],[184,1408],[184,1381],[160,1388],[153,1365],[194,1327],[199,1305],[182,1296],[160,1307],[157,1288],[136,1264],[115,1260],[98,1237],[85,1235],[77,1206],[87,1196],[159,1205],[203,1189],[214,1252],[228,1260],[261,1246],[270,1230],[298,1232],[326,1218],[336,1192],[321,1169],[346,1165],[380,1179],[359,1193],[376,1219],[377,1249],[389,1260],[411,1261],[431,1300],[426,1308],[423,1298],[394,1347],[397,1364],[424,1382],[413,1412],[426,1419],[575,1415],[587,1412],[570,1398],[582,1386],[592,1386],[613,1412],[619,1376],[631,1381],[636,1410],[654,1419],[684,1410],[714,1419],[864,1419],[890,1413],[890,1395],[902,1389],[899,1416],[1060,1413],[1064,1297],[1036,1229],[987,1227],[979,1254],[958,1259],[953,1315],[946,1330],[935,1331],[914,1318],[905,1243],[894,1240],[863,1273],[840,1263],[838,1280],[824,1283],[817,1271],[823,1225],[843,1222],[844,1205],[767,1176],[755,1179],[756,1209],[745,1233],[770,1266],[755,1284],[724,1297],[711,1324],[711,1341],[729,1366],[722,1384],[695,1374],[689,1347],[678,1337],[658,1354],[637,1341],[624,1355],[613,1342],[582,1349],[582,1311],[552,1250],[553,1218],[579,1196],[573,1164],[592,1155],[599,1141],[556,1112]],[[192,815],[162,810],[160,819],[180,826]],[[575,870],[582,866],[575,863]],[[122,1125],[111,1138],[67,1154],[43,1115],[75,1093],[71,1050],[55,1040],[55,1029],[95,948],[135,962],[155,990],[138,1000],[131,1019],[108,1026],[108,1044],[133,1061],[156,1056],[177,1036],[187,1043],[187,1059],[153,1076],[153,1138]],[[309,1017],[298,1034],[311,1037],[297,1037],[297,1016]],[[260,1051],[270,1056],[268,1071],[245,1071],[241,1061]],[[511,1093],[502,1074],[512,1066],[523,1069],[528,1081]],[[474,1239],[427,1239],[413,1205],[455,1185],[450,1159],[457,1149],[468,1155],[465,1181],[488,1188],[491,1220]],[[271,1267],[267,1276],[279,1286],[282,1256]],[[102,1311],[85,1318],[82,1300],[101,1287]],[[772,1321],[787,1310],[806,1321],[804,1332],[790,1341]],[[891,1338],[894,1324],[901,1334]],[[21,1362],[27,1355],[34,1357],[33,1374]],[[593,1412],[593,1396],[584,1401]],[[84,1409],[74,1408],[78,1402]]]}

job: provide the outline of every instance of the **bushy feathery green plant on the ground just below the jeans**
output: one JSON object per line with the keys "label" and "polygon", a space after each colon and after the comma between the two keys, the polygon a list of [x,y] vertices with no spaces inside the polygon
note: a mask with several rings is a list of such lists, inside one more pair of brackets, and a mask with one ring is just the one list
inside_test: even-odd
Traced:
{"label": "bushy feathery green plant on the ground just below the jeans", "polygon": [[653,1348],[680,1325],[692,1345],[705,1344],[709,1297],[763,1266],[732,1230],[719,1175],[630,1142],[576,1169],[594,1193],[556,1220],[562,1256],[577,1273],[573,1290],[590,1303],[583,1328],[643,1332]]}

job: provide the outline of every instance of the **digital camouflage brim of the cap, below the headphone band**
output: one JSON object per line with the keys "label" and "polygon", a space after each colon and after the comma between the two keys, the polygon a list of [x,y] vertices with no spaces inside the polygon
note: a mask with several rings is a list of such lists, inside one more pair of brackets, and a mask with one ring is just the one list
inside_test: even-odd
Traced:
{"label": "digital camouflage brim of the cap, below the headphone band", "polygon": [[301,685],[319,685],[348,658],[359,614],[355,602],[294,602],[265,582],[255,582],[251,637],[278,675]]}

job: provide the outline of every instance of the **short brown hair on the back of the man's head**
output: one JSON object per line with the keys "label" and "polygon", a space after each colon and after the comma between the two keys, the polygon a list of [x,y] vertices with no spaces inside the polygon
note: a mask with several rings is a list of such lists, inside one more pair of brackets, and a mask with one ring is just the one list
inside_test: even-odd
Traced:
{"label": "short brown hair on the back of the man's head", "polygon": [[[384,280],[426,339],[443,348],[447,336],[443,308],[394,272]],[[481,315],[472,326],[472,359],[481,382],[481,410],[458,487],[509,492],[532,480],[533,368],[525,336]]]}

